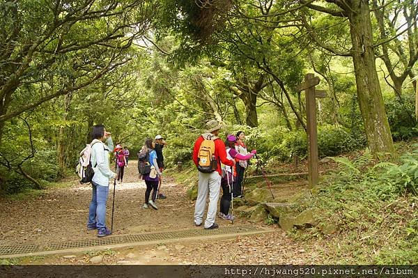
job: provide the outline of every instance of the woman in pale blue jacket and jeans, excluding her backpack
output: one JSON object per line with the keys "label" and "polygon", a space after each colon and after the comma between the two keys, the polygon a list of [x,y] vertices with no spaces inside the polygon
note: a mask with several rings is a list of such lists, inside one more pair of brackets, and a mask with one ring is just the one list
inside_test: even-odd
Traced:
{"label": "woman in pale blue jacket and jeans, excluding her backpack", "polygon": [[[94,176],[91,180],[92,197],[88,208],[87,229],[98,230],[98,237],[111,235],[106,227],[106,201],[109,194],[109,179],[116,178],[116,173],[109,167],[109,151],[113,150],[113,141],[110,132],[104,129],[104,125],[94,125],[91,132],[91,165]],[[106,141],[106,144],[103,144]],[[96,143],[96,144],[95,144]]]}

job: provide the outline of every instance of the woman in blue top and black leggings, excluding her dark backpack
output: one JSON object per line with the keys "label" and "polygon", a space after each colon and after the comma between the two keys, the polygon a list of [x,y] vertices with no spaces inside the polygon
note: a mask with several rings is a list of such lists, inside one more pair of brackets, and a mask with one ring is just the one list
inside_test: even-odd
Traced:
{"label": "woman in blue top and black leggings, excluding her dark backpack", "polygon": [[[142,206],[142,208],[148,208],[148,205],[150,205],[152,208],[157,210],[158,207],[155,204],[155,199],[157,198],[158,183],[160,181],[162,173],[158,168],[157,153],[155,152],[154,148],[155,146],[153,139],[147,138],[145,139],[145,144],[140,151],[140,153],[148,153],[148,163],[151,165],[150,173],[145,173],[142,175],[142,179],[145,180],[146,184],[145,203]],[[153,190],[153,195],[150,200],[151,190]]]}

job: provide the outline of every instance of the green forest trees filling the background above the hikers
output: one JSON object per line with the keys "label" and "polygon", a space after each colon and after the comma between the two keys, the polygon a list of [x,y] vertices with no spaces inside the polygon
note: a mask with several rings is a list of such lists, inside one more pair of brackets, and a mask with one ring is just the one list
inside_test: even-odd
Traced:
{"label": "green forest trees filling the background above the hikers", "polygon": [[304,92],[320,77],[320,157],[396,156],[417,135],[418,1],[4,0],[0,189],[74,172],[103,123],[133,158],[191,160],[204,123],[245,130],[265,162],[307,156]]}

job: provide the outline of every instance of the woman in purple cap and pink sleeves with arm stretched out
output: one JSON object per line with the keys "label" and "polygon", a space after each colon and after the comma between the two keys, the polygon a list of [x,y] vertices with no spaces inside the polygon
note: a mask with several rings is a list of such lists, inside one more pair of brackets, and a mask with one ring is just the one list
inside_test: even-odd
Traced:
{"label": "woman in purple cap and pink sleeves with arm stretched out", "polygon": [[[239,160],[249,160],[254,157],[256,150],[252,150],[251,153],[247,155],[241,155],[235,150],[236,137],[234,135],[229,135],[226,137],[226,157],[229,160],[239,159]],[[229,214],[229,207],[231,206],[231,189],[234,188],[235,183],[237,182],[237,171],[236,164],[235,166],[224,167],[225,175],[222,176],[221,186],[222,186],[222,197],[218,217],[225,220],[233,220],[233,216]]]}

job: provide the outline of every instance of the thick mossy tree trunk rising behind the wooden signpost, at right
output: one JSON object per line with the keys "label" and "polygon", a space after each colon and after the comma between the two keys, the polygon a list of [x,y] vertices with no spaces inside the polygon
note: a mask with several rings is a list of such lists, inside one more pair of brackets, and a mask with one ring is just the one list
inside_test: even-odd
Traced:
{"label": "thick mossy tree trunk rising behind the wooden signpost, at right", "polygon": [[367,0],[354,0],[348,15],[353,42],[357,100],[371,153],[395,154],[373,52],[373,31]]}

